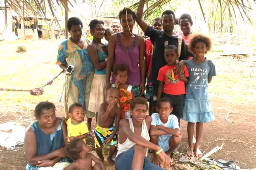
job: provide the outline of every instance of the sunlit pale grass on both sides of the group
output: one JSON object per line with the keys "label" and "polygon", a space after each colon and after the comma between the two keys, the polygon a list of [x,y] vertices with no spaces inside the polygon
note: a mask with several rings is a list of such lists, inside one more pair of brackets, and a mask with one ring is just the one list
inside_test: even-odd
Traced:
{"label": "sunlit pale grass on both sides of the group", "polygon": [[[18,40],[0,42],[0,88],[32,89],[43,86],[61,70],[55,65],[58,44],[61,40]],[[16,53],[17,45],[24,44],[26,53]],[[207,54],[216,66],[217,76],[209,84],[211,97],[235,103],[255,102],[256,65],[255,56],[235,60],[230,56],[219,56],[221,52]],[[253,65],[254,64],[254,65]],[[55,79],[51,86],[44,88],[40,96],[28,92],[0,91],[0,102],[6,105],[37,103],[43,100],[58,102],[62,93],[64,75]]]}

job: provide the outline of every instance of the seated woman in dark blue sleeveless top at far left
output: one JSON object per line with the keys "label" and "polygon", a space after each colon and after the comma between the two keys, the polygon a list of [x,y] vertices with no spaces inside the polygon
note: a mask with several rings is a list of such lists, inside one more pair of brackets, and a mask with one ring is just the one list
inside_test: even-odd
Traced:
{"label": "seated woman in dark blue sleeveless top at far left", "polygon": [[55,163],[71,163],[70,159],[65,158],[66,123],[55,115],[55,105],[40,102],[36,105],[35,116],[37,121],[28,126],[25,133],[26,170],[38,170],[54,166]]}

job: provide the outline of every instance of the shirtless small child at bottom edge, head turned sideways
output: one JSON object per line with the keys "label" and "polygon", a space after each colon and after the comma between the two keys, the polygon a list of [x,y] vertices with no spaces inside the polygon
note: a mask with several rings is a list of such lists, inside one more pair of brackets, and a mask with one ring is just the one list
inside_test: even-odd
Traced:
{"label": "shirtless small child at bottom edge, head turned sideways", "polygon": [[[63,170],[106,170],[104,163],[93,154],[90,148],[81,139],[74,139],[66,146],[69,158],[73,160],[71,165]],[[95,165],[92,166],[92,161]]]}

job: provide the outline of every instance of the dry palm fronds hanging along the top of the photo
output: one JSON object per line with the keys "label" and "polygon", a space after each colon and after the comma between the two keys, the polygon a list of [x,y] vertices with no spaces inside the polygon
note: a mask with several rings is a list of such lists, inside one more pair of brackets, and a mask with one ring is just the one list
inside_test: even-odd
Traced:
{"label": "dry palm fronds hanging along the top of the photo", "polygon": [[[147,0],[147,9],[143,12],[144,19],[147,19],[156,9],[163,12],[161,6],[166,3],[171,3],[171,1],[172,0]],[[59,12],[60,7],[64,7],[67,11],[69,11],[68,5],[71,5],[72,7],[73,5],[76,5],[76,0],[72,0],[72,2],[71,0],[5,0],[5,2],[20,17],[23,17],[24,15],[31,16],[32,14],[34,16],[40,16],[41,18],[47,18],[47,10],[50,9],[50,13],[55,21],[58,21],[56,13]],[[204,17],[204,21],[206,21],[203,7],[205,1],[198,0],[198,2]],[[228,12],[229,19],[234,21],[237,20],[237,14],[239,14],[244,21],[245,19],[248,19],[248,21],[251,22],[248,12],[251,11],[251,3],[256,3],[256,0],[212,0],[206,2],[208,2],[208,5],[214,5],[216,11],[220,10],[221,23],[223,21],[223,14],[225,12]],[[104,3],[107,3],[107,1]],[[139,2],[136,2],[131,5],[130,8],[136,10],[138,5]]]}

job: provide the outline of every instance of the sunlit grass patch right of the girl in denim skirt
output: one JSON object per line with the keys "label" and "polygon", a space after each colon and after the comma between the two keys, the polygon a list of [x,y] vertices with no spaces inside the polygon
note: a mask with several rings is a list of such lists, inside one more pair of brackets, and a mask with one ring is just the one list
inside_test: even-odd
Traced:
{"label": "sunlit grass patch right of the girl in denim skirt", "polygon": [[256,65],[255,57],[233,59],[231,56],[219,56],[221,53],[209,53],[207,56],[216,66],[217,76],[209,84],[209,93],[242,104],[256,102]]}

